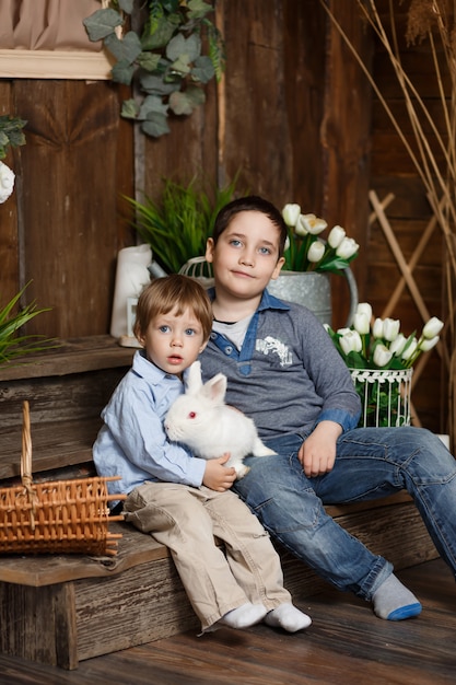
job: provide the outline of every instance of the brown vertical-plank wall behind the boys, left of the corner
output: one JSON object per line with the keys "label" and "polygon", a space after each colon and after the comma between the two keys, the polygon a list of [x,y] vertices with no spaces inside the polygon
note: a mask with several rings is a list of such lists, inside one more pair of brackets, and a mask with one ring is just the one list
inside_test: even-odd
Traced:
{"label": "brown vertical-plank wall behind the boys, left of the corner", "polygon": [[157,196],[163,176],[224,183],[241,171],[239,188],[346,221],[336,201],[342,191],[326,187],[343,179],[326,173],[327,150],[343,139],[350,146],[336,116],[337,136],[319,140],[331,57],[318,3],[218,0],[217,9],[227,54],[223,86],[210,84],[206,106],[172,120],[159,140],[133,141],[132,126],[118,116],[125,93],[109,82],[0,79],[1,113],[28,121],[27,144],[9,158],[16,190],[0,207],[0,290],[7,299],[33,279],[26,301],[52,307],[30,333],[108,332],[116,254],[135,240],[120,195]]}

